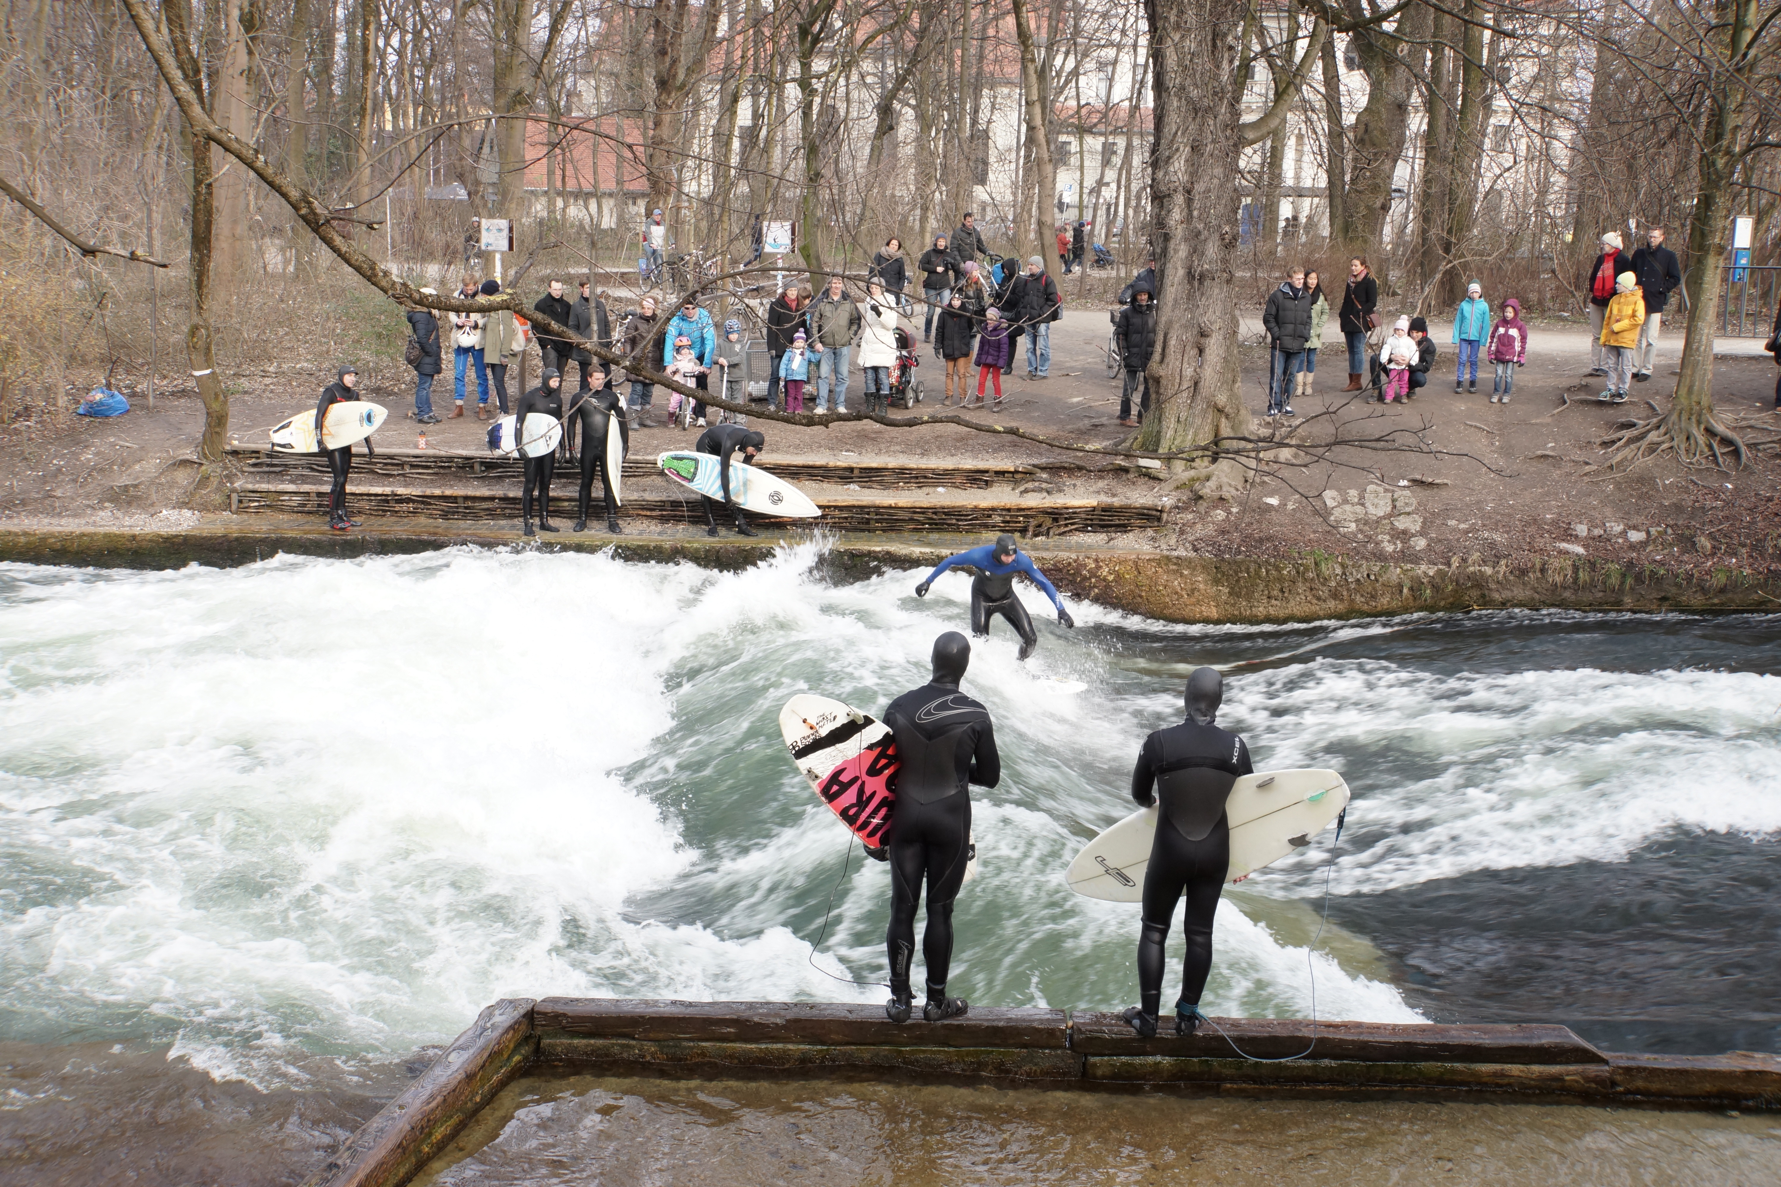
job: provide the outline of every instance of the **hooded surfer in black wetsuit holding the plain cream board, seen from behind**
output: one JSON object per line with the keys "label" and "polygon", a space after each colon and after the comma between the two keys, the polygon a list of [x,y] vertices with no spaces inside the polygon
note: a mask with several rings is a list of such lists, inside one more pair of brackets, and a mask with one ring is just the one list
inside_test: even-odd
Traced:
{"label": "hooded surfer in black wetsuit holding the plain cream board, seen from behind", "polygon": [[1181,968],[1175,1034],[1193,1034],[1204,1014],[1200,993],[1213,968],[1213,915],[1231,870],[1231,822],[1225,799],[1238,776],[1250,774],[1248,746],[1213,724],[1224,699],[1216,667],[1188,676],[1188,719],[1143,740],[1131,772],[1131,797],[1156,813],[1156,840],[1143,872],[1143,931],[1138,938],[1138,1000],[1126,1021],[1143,1038],[1156,1034],[1163,1002],[1163,940],[1186,895],[1183,931],[1188,956]]}

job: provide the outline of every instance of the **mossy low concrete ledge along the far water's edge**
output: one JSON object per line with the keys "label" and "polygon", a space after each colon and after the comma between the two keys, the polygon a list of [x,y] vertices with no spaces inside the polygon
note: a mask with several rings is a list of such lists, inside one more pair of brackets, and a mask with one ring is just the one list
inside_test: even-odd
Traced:
{"label": "mossy low concrete ledge along the far water's edge", "polygon": [[[769,529],[771,532],[771,529]],[[549,543],[522,543],[506,525],[458,527],[424,521],[328,532],[308,521],[280,527],[217,523],[178,532],[103,529],[0,529],[0,561],[102,568],[182,568],[253,564],[280,553],[356,559],[408,555],[449,546],[607,552],[627,561],[687,561],[746,568],[784,541],[700,536],[563,532]],[[825,569],[841,580],[887,568],[924,568],[976,537],[887,537],[848,534],[828,539]],[[1316,550],[1286,557],[1199,557],[1172,552],[1095,548],[1029,541],[1045,573],[1072,598],[1170,623],[1279,623],[1416,610],[1573,609],[1573,610],[1772,610],[1781,577],[1720,564],[1685,568],[1667,553],[1622,564],[1578,557],[1446,564],[1361,561]]]}

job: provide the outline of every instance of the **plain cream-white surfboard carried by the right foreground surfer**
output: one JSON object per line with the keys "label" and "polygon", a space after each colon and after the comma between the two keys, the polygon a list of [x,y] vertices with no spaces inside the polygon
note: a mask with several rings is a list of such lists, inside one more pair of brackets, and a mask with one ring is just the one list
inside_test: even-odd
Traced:
{"label": "plain cream-white surfboard carried by the right foreground surfer", "polygon": [[[1225,819],[1231,822],[1231,868],[1225,881],[1248,877],[1304,849],[1346,806],[1348,785],[1334,771],[1245,774],[1225,799]],[[1154,836],[1156,808],[1140,808],[1088,842],[1063,872],[1063,881],[1090,899],[1138,902],[1143,899],[1143,870],[1151,865]]]}

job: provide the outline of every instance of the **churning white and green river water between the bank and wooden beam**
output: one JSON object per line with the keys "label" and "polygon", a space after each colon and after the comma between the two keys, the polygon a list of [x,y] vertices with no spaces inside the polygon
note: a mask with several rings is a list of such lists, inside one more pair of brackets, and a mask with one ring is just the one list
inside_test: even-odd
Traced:
{"label": "churning white and green river water between the bank and wooden beam", "polygon": [[[883,975],[885,867],[853,847],[842,870],[775,719],[803,689],[876,712],[924,682],[969,582],[917,600],[917,578],[837,584],[816,546],[737,573],[479,550],[0,566],[0,1041],[20,1068],[84,1045],[94,1077],[150,1052],[301,1096],[508,995],[882,1000],[853,981]],[[1134,1000],[1136,909],[1061,868],[1216,664],[1257,767],[1336,767],[1355,799],[1332,867],[1325,833],[1227,893],[1209,1013],[1781,1046],[1781,616],[1081,605],[1065,632],[1026,596],[1035,660],[997,625],[965,680],[1003,783],[972,790],[956,993]]]}

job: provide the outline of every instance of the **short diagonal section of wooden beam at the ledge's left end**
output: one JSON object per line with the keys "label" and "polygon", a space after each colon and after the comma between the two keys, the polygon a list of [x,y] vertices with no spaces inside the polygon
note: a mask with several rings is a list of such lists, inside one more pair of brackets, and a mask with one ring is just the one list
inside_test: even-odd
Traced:
{"label": "short diagonal section of wooden beam at the ledge's left end", "polygon": [[533,998],[495,1002],[303,1187],[406,1183],[520,1073],[536,1048]]}

